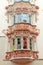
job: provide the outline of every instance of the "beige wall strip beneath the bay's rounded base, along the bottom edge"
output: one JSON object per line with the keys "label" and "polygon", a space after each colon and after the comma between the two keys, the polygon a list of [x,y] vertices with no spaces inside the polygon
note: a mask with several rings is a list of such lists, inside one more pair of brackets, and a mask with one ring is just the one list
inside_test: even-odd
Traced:
{"label": "beige wall strip beneath the bay's rounded base, along the bottom edge", "polygon": [[[19,65],[19,64],[13,64],[12,62],[2,61],[2,62],[0,62],[0,65]],[[22,65],[26,65],[26,64],[22,64]],[[43,65],[43,61],[40,61],[40,60],[39,61],[33,61],[31,63],[28,63],[27,65]]]}

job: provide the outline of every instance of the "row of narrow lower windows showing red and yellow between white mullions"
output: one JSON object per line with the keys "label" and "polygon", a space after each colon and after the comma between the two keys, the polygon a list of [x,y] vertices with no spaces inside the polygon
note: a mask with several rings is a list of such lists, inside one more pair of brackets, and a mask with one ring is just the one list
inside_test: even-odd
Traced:
{"label": "row of narrow lower windows showing red and yellow between white mullions", "polygon": [[[29,40],[29,42],[27,42],[27,40]],[[13,39],[12,50],[14,50],[15,47],[17,47],[17,49],[22,49],[22,48],[28,49],[28,47],[29,47],[30,50],[32,50],[32,41],[33,41],[32,38],[28,39],[26,36],[23,37],[22,41],[21,41],[21,38],[17,38],[16,41],[15,41],[15,39]],[[29,46],[28,46],[28,44],[29,44]]]}

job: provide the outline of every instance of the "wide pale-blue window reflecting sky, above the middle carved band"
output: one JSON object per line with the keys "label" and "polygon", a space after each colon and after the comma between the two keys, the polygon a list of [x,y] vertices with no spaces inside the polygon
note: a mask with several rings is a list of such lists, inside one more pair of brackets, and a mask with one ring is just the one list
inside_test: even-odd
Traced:
{"label": "wide pale-blue window reflecting sky, above the middle carved band", "polygon": [[30,23],[31,24],[31,16],[28,14],[17,14],[15,15],[15,23]]}

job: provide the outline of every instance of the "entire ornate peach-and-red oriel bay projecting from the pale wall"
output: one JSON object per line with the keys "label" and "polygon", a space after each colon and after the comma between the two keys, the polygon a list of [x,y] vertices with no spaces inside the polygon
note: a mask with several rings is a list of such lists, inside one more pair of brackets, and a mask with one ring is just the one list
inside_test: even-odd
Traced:
{"label": "entire ornate peach-and-red oriel bay projecting from the pale wall", "polygon": [[[4,30],[8,39],[5,60],[16,63],[28,63],[38,59],[36,38],[37,10],[35,0],[8,0],[6,15],[8,29]],[[11,4],[11,2],[13,2]]]}

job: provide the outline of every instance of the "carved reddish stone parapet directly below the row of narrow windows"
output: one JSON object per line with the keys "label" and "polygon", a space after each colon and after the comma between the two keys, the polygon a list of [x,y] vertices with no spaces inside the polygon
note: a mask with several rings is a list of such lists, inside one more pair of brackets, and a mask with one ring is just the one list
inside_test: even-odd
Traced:
{"label": "carved reddish stone parapet directly below the row of narrow windows", "polygon": [[5,59],[38,59],[38,52],[31,50],[15,50],[11,52],[6,52]]}

